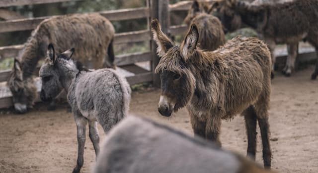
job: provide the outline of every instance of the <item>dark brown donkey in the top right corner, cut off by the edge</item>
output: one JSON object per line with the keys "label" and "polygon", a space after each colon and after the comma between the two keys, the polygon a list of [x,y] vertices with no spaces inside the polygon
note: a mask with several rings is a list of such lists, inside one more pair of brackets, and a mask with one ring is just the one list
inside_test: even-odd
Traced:
{"label": "dark brown donkey in the top right corner, cut off by the edge", "polygon": [[[268,44],[272,56],[272,72],[276,57],[276,43],[287,44],[287,63],[283,69],[290,76],[295,68],[298,43],[306,40],[316,47],[318,54],[318,2],[294,0],[285,3],[248,3],[238,0],[220,0],[213,5],[221,15],[223,25],[230,31],[242,23],[255,29]],[[318,58],[318,56],[317,56]],[[318,61],[318,60],[317,60]],[[318,62],[312,80],[318,75]]]}

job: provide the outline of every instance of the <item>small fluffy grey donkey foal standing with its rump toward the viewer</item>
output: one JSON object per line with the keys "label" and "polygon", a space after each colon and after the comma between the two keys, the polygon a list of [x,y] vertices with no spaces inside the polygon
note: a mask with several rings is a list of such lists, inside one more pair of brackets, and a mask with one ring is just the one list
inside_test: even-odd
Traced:
{"label": "small fluffy grey donkey foal standing with its rump toward the viewer", "polygon": [[48,57],[42,65],[39,76],[42,79],[41,99],[50,101],[61,91],[67,92],[72,106],[78,132],[78,160],[73,173],[79,173],[83,166],[86,123],[89,138],[96,156],[99,153],[97,122],[107,132],[128,114],[130,86],[126,79],[113,69],[89,71],[79,62],[71,59],[74,48],[55,56],[54,47],[49,44]]}

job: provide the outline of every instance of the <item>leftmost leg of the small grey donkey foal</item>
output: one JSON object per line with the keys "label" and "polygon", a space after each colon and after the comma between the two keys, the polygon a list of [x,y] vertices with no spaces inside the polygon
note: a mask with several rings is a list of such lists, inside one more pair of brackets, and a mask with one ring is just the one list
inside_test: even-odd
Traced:
{"label": "leftmost leg of the small grey donkey foal", "polygon": [[80,114],[75,115],[75,122],[78,132],[78,159],[73,173],[79,173],[84,164],[84,146],[85,146],[85,130],[87,120]]}

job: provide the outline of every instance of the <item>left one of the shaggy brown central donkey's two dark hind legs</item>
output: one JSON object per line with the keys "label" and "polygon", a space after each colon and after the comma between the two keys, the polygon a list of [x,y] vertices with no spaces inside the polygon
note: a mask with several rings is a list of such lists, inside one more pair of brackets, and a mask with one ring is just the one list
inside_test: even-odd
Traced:
{"label": "left one of the shaggy brown central donkey's two dark hind legs", "polygon": [[256,113],[251,105],[243,111],[242,115],[245,118],[245,127],[247,133],[247,156],[255,160],[256,155]]}

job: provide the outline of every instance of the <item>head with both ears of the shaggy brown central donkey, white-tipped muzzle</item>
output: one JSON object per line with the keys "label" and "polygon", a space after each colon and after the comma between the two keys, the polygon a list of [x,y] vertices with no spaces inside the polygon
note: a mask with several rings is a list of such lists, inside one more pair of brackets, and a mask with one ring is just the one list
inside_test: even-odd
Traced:
{"label": "head with both ears of the shaggy brown central donkey, white-tipped muzzle", "polygon": [[156,73],[160,73],[161,95],[158,110],[163,116],[184,107],[191,99],[195,89],[195,78],[189,69],[189,63],[195,56],[198,43],[198,29],[192,25],[181,45],[173,45],[165,36],[157,19],[151,22],[154,40],[160,56]]}

